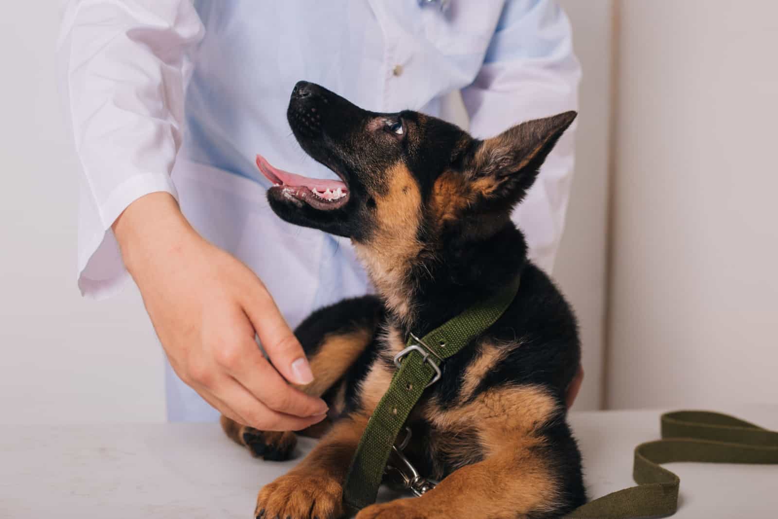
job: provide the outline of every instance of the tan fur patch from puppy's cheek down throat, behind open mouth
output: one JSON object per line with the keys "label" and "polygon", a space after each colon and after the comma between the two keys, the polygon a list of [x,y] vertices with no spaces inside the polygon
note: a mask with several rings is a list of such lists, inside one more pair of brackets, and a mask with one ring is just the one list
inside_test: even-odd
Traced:
{"label": "tan fur patch from puppy's cheek down throat, behind open mouth", "polygon": [[413,310],[408,306],[408,293],[413,289],[408,268],[422,251],[416,238],[422,197],[405,163],[391,167],[386,176],[387,191],[376,197],[375,233],[368,244],[355,243],[355,249],[387,307],[407,319]]}

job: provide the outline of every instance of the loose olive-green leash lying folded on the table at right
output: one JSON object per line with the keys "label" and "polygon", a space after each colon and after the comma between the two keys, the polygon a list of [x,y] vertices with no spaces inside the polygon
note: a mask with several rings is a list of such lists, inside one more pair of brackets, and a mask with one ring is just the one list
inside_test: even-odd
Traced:
{"label": "loose olive-green leash lying folded on the table at right", "polygon": [[668,412],[662,439],[635,447],[633,479],[638,486],[579,507],[569,519],[628,519],[675,514],[678,476],[660,466],[671,461],[778,464],[778,432],[708,411]]}

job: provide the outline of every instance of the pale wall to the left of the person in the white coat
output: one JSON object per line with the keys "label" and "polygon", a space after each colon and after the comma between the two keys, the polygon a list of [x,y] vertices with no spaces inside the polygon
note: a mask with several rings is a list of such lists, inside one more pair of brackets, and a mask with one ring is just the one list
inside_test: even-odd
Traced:
{"label": "pale wall to the left of the person in the white coat", "polygon": [[162,420],[162,359],[137,291],[96,303],[75,286],[77,163],[54,86],[58,2],[9,9],[0,17],[0,423]]}

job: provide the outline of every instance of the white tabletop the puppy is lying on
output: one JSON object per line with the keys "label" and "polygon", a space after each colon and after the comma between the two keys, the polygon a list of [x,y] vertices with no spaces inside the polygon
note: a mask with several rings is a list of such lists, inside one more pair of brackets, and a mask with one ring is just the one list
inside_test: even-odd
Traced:
{"label": "white tabletop the puppy is lying on", "polygon": [[[778,430],[778,405],[720,410]],[[571,413],[590,497],[634,484],[633,448],[659,437],[659,416]],[[313,445],[300,439],[296,459]],[[260,486],[295,462],[251,458],[215,423],[0,426],[0,517],[245,519]],[[675,517],[778,517],[778,465],[668,468],[681,477]]]}

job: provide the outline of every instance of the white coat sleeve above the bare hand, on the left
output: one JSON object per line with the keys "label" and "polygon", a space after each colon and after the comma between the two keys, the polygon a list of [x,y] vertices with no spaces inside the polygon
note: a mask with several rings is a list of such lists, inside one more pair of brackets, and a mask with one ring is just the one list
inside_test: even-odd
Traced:
{"label": "white coat sleeve above the bare hand, on the left", "polygon": [[127,273],[111,224],[143,195],[177,196],[187,50],[203,35],[190,0],[72,0],[58,81],[79,158],[78,284],[109,296]]}

